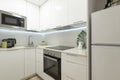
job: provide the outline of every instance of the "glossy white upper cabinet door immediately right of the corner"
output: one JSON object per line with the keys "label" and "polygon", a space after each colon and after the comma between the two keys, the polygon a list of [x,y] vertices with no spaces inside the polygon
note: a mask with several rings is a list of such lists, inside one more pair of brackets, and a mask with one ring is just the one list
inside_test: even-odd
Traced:
{"label": "glossy white upper cabinet door immediately right of the corner", "polygon": [[40,29],[49,29],[53,27],[54,22],[54,0],[48,0],[44,5],[40,7]]}

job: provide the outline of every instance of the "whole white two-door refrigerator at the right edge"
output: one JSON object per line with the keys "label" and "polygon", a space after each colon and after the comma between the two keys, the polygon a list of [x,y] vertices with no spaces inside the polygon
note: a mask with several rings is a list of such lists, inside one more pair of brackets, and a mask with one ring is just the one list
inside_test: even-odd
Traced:
{"label": "whole white two-door refrigerator at the right edge", "polygon": [[92,14],[92,80],[120,80],[120,6]]}

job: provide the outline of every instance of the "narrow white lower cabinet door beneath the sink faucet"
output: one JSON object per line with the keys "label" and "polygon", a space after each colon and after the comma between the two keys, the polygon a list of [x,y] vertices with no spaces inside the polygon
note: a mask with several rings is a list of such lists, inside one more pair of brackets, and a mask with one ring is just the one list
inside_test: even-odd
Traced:
{"label": "narrow white lower cabinet door beneath the sink faucet", "polygon": [[25,77],[35,73],[35,49],[25,49]]}

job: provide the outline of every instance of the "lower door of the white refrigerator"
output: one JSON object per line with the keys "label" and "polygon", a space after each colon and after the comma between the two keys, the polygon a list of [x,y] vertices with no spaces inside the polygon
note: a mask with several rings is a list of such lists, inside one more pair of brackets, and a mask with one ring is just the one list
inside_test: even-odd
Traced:
{"label": "lower door of the white refrigerator", "polygon": [[92,80],[120,80],[120,47],[92,46]]}

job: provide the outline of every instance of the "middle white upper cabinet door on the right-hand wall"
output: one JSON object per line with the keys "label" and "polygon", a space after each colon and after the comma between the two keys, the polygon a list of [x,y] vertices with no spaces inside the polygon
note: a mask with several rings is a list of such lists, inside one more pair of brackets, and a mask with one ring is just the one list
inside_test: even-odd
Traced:
{"label": "middle white upper cabinet door on the right-hand wall", "polygon": [[53,27],[68,25],[68,1],[54,0],[53,3]]}

